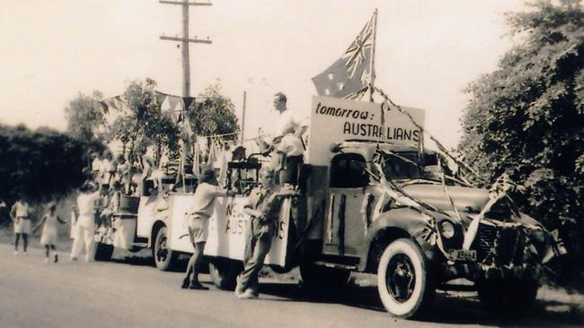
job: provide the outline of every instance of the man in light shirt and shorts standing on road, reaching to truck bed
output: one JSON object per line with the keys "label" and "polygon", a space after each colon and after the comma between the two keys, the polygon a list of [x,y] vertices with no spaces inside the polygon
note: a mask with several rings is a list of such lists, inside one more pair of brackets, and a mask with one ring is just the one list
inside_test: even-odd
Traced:
{"label": "man in light shirt and shorts standing on road, reaching to truck bed", "polygon": [[[219,188],[215,170],[206,169],[200,176],[200,183],[195,191],[192,206],[187,216],[190,243],[194,248],[187,264],[186,276],[182,280],[183,289],[208,289],[199,282],[200,263],[203,259],[205,243],[208,237],[208,218],[213,215],[217,197],[234,196],[231,190]],[[192,279],[190,274],[192,273]]]}

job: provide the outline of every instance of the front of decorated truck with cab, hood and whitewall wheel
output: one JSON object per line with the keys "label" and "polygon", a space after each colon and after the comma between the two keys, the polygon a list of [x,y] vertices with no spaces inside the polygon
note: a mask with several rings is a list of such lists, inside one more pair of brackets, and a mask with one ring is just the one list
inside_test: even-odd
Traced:
{"label": "front of decorated truck with cab, hood and whitewall wheel", "polygon": [[422,314],[435,289],[459,278],[474,282],[493,313],[519,315],[534,303],[556,241],[509,198],[429,178],[436,154],[415,147],[331,149],[327,178],[315,177],[326,181],[323,224],[314,225],[299,264],[305,284],[339,287],[349,272],[375,273],[385,308],[405,318]]}

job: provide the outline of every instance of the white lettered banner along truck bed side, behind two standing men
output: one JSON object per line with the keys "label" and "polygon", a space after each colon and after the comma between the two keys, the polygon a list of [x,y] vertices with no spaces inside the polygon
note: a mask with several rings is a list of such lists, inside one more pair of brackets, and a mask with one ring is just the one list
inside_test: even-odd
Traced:
{"label": "white lettered banner along truck bed side, behind two standing men", "polygon": [[[172,194],[170,198],[171,237],[173,250],[192,253],[189,231],[186,226],[185,213],[189,211],[194,194]],[[245,244],[250,233],[250,216],[243,213],[247,197],[221,197],[215,202],[215,211],[209,219],[208,239],[205,255],[223,256],[234,260],[243,260]],[[288,244],[288,220],[290,200],[282,203],[276,236],[272,238],[270,253],[266,264],[284,266],[286,264],[286,246]]]}

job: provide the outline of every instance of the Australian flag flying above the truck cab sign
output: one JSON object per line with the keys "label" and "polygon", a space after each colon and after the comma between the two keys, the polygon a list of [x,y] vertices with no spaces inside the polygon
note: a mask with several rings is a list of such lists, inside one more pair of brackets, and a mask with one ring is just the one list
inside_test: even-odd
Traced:
{"label": "Australian flag flying above the truck cab sign", "polygon": [[374,32],[377,12],[373,14],[347,51],[334,64],[313,78],[320,96],[350,98],[362,94],[373,80]]}

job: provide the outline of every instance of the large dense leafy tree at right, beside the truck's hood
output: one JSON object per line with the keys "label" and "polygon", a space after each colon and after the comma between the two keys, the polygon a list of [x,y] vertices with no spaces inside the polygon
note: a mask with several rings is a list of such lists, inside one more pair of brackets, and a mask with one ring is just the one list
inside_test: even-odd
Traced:
{"label": "large dense leafy tree at right, beside the truck's hood", "polygon": [[516,199],[560,230],[569,281],[584,268],[584,11],[542,1],[507,18],[518,44],[468,87],[459,150],[487,181],[524,183]]}

